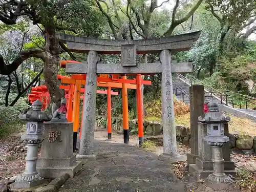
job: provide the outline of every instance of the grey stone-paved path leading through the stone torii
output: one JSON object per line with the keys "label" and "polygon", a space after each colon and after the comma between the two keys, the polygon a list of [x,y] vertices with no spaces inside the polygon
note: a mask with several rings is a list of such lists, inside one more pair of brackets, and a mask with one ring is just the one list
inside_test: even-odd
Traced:
{"label": "grey stone-paved path leading through the stone torii", "polygon": [[158,160],[155,153],[97,138],[94,152],[97,160],[83,165],[82,170],[60,191],[185,191],[184,184],[172,172],[172,165]]}

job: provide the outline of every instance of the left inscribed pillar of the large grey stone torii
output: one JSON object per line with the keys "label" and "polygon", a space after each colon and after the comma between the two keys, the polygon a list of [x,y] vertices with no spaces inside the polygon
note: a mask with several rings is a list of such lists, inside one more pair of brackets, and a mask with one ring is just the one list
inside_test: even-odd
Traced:
{"label": "left inscribed pillar of the large grey stone torii", "polygon": [[86,93],[84,94],[82,135],[80,141],[79,154],[77,158],[91,158],[92,146],[94,140],[94,125],[96,115],[96,90],[97,74],[96,66],[98,62],[98,53],[89,51],[88,53],[88,72],[86,76]]}

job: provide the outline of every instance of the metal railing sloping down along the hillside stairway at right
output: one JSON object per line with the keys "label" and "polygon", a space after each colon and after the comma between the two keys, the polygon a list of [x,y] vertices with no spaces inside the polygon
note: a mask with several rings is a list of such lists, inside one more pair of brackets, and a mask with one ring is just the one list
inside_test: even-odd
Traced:
{"label": "metal railing sloping down along the hillside stairway at right", "polygon": [[240,108],[240,109],[250,109],[256,107],[256,98],[242,95],[240,93],[235,93],[232,91],[219,91],[210,86],[207,86],[204,82],[192,77],[187,78],[181,74],[177,74],[177,78],[182,79],[185,83],[193,85],[193,84],[202,84],[205,88],[205,97],[211,97],[211,99],[218,99],[221,104],[225,104],[231,106],[232,108]]}

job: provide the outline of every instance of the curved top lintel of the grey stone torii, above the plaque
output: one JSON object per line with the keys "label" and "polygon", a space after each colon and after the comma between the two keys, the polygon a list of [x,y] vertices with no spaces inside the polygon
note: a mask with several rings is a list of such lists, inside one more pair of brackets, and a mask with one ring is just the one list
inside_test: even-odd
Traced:
{"label": "curved top lintel of the grey stone torii, above the plaque", "polygon": [[67,44],[71,52],[88,53],[90,50],[98,53],[120,54],[121,45],[136,45],[137,54],[159,53],[161,50],[171,52],[186,51],[191,48],[199,36],[200,31],[174,35],[169,37],[138,39],[138,40],[111,40],[91,37],[80,37],[67,34],[60,34],[59,38]]}

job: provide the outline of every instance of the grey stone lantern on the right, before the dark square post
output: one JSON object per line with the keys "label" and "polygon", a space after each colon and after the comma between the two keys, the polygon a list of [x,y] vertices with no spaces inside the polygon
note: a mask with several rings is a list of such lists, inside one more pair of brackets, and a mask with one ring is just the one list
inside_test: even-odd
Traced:
{"label": "grey stone lantern on the right, before the dark square post", "polygon": [[224,173],[222,146],[229,141],[229,138],[224,135],[224,123],[229,122],[230,117],[223,116],[216,102],[209,102],[208,110],[204,117],[198,117],[199,122],[206,126],[207,136],[204,136],[204,140],[211,147],[214,167],[213,173],[206,178],[205,182],[212,188],[227,188],[233,180]]}

